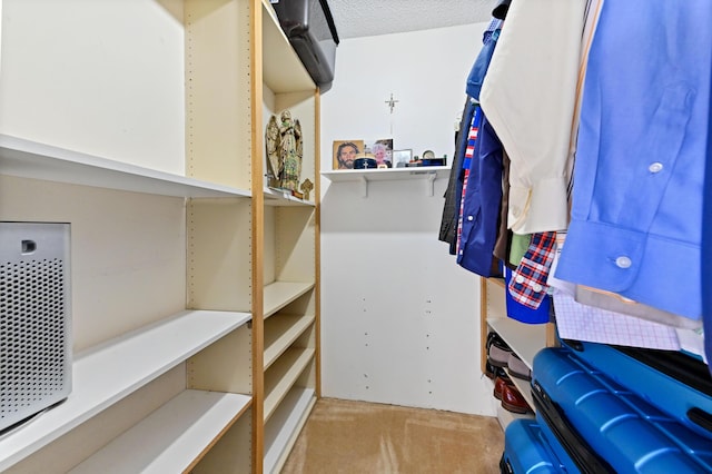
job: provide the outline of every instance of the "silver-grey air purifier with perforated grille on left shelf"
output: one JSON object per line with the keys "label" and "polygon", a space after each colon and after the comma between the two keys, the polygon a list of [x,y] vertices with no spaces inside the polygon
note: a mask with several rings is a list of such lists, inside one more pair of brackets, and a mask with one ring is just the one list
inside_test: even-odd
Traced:
{"label": "silver-grey air purifier with perforated grille on left shelf", "polygon": [[[61,241],[65,231],[53,233],[60,243],[50,245],[49,224],[30,225],[12,236],[2,231],[8,223],[1,225],[0,429],[66,398],[71,389],[66,256],[46,255],[68,249]],[[14,258],[8,258],[12,251]]]}

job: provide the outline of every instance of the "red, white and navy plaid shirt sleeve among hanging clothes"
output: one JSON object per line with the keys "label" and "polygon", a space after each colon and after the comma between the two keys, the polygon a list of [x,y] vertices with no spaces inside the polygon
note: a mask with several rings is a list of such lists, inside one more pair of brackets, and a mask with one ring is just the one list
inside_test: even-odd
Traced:
{"label": "red, white and navy plaid shirt sleeve among hanging clothes", "polygon": [[515,302],[538,308],[546,295],[546,279],[554,260],[555,244],[556,233],[532,235],[530,247],[510,280],[510,295]]}

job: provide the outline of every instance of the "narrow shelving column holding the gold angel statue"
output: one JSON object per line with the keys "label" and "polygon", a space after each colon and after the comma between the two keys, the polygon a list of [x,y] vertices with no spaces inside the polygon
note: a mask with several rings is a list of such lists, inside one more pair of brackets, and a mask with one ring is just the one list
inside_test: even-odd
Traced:
{"label": "narrow shelving column holding the gold angel statue", "polygon": [[[319,396],[318,373],[318,89],[279,27],[268,0],[261,4],[261,98],[264,113],[254,137],[266,169],[264,130],[269,116],[289,110],[303,130],[301,181],[315,188],[309,200],[283,191],[264,191],[263,424],[264,472],[278,472]],[[260,100],[261,99],[261,100]]]}

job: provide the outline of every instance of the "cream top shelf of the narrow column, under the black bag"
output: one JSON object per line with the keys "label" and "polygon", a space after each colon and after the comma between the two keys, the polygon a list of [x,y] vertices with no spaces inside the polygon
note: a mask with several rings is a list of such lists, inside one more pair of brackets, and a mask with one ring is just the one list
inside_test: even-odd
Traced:
{"label": "cream top shelf of the narrow column, under the black bag", "polygon": [[273,92],[316,90],[268,0],[263,0],[263,82]]}

